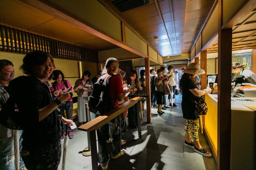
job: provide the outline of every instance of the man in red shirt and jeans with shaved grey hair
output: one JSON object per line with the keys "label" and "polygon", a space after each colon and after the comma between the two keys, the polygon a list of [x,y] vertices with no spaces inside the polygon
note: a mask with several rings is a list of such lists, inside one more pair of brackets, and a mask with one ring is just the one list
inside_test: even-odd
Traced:
{"label": "man in red shirt and jeans with shaved grey hair", "polygon": [[[105,66],[107,73],[106,75],[116,75],[119,70],[119,63],[116,58],[108,58]],[[105,70],[105,71],[106,71]],[[104,71],[104,70],[103,70]],[[108,77],[108,76],[106,76]],[[119,76],[113,76],[109,78],[111,99],[116,100],[114,102],[113,108],[118,107],[118,101],[122,101],[125,97],[125,94],[129,92],[128,90],[123,89],[122,79]],[[97,115],[96,115],[97,116]],[[118,115],[116,118],[102,126],[97,130],[98,136],[98,148],[99,148],[99,158],[100,165],[103,170],[108,168],[108,163],[110,160],[110,156],[108,155],[108,146],[107,146],[107,136],[108,136],[108,126],[110,126],[112,130],[112,155],[111,159],[117,159],[124,155],[125,150],[121,150],[121,119]]]}

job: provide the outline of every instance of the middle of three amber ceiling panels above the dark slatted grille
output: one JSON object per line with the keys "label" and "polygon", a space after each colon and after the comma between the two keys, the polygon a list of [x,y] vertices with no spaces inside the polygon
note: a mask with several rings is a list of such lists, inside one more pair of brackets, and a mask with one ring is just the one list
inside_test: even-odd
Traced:
{"label": "middle of three amber ceiling panels above the dark slatted grille", "polygon": [[84,32],[83,30],[59,19],[52,19],[48,22],[42,23],[41,25],[29,29],[29,31],[54,37],[58,40],[69,42],[71,44],[95,38],[94,35]]}

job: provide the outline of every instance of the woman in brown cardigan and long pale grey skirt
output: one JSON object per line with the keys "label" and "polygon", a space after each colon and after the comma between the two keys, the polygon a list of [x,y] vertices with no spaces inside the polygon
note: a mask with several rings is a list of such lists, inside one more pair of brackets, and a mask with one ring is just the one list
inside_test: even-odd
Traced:
{"label": "woman in brown cardigan and long pale grey skirt", "polygon": [[[91,72],[84,71],[82,78],[76,80],[74,90],[77,93],[77,118],[78,122],[82,125],[86,120],[85,103],[89,103],[89,96],[92,93],[92,81],[90,80]],[[92,117],[92,113],[90,112]]]}

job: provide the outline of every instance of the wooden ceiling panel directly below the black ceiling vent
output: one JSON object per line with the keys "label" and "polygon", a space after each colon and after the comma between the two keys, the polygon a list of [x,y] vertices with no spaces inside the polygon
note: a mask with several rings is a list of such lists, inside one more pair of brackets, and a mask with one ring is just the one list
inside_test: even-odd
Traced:
{"label": "wooden ceiling panel directly below the black ceiling vent", "polygon": [[155,4],[146,5],[120,14],[127,23],[158,15]]}

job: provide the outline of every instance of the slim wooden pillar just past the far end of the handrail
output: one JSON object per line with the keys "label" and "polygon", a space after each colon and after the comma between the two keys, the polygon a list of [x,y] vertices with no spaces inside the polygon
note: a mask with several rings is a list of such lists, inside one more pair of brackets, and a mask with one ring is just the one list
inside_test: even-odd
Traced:
{"label": "slim wooden pillar just past the far end of the handrail", "polygon": [[149,57],[145,57],[145,77],[146,77],[146,94],[147,98],[147,122],[151,123],[151,95],[150,95],[150,72],[149,72]]}

